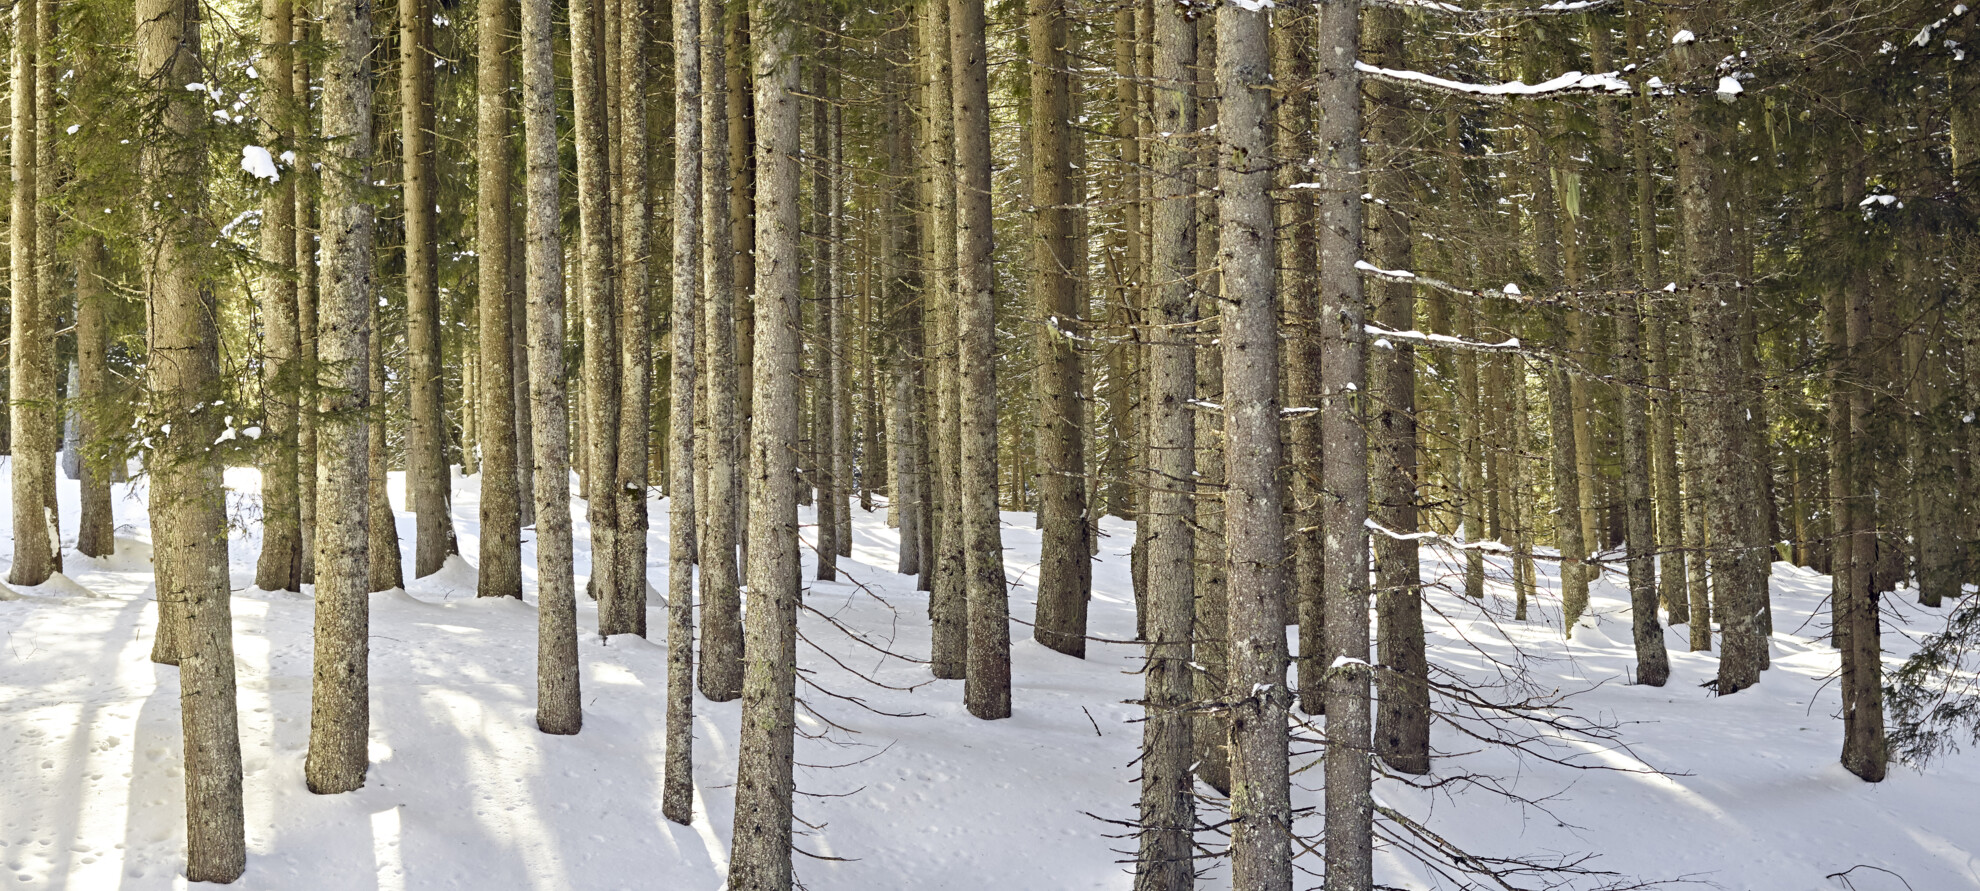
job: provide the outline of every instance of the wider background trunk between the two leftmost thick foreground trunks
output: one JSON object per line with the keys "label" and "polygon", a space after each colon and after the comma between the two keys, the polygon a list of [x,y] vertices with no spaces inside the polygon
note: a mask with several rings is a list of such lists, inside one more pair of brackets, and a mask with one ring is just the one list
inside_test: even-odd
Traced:
{"label": "wider background trunk between the two leftmost thick foreground trunks", "polygon": [[[289,61],[295,10],[289,0],[261,2],[261,139],[279,152],[293,145],[295,65]],[[255,586],[303,590],[303,505],[297,491],[295,412],[301,350],[295,311],[295,174],[261,192],[261,404],[269,446],[261,461],[261,558]]]}

